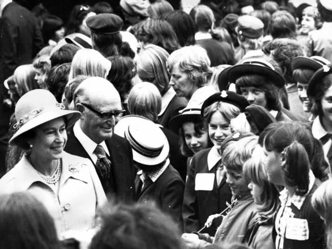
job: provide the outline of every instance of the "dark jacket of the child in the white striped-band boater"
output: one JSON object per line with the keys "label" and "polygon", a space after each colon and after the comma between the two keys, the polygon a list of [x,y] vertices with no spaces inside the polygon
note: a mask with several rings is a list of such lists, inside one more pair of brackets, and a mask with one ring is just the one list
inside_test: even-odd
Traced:
{"label": "dark jacket of the child in the white striped-band boater", "polygon": [[179,172],[170,164],[153,183],[144,185],[138,194],[139,203],[154,202],[163,211],[170,214],[182,228],[182,203],[184,182]]}

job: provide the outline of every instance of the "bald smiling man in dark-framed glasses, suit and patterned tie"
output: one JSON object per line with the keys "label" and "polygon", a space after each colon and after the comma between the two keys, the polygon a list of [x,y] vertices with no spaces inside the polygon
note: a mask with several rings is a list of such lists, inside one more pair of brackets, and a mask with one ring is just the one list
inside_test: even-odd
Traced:
{"label": "bald smiling man in dark-framed glasses, suit and patterned tie", "polygon": [[134,167],[128,141],[113,134],[124,115],[120,95],[100,77],[84,80],[74,92],[75,109],[82,113],[68,135],[65,151],[89,158],[96,168],[107,197],[130,203],[134,200]]}

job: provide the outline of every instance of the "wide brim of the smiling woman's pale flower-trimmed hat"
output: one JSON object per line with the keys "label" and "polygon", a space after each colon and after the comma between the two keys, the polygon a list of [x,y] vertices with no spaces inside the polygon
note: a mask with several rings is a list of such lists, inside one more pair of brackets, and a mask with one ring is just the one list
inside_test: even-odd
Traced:
{"label": "wide brim of the smiling woman's pale flower-trimmed hat", "polygon": [[23,124],[22,127],[20,127],[13,137],[9,140],[9,144],[15,144],[19,145],[21,135],[31,131],[32,129],[40,126],[41,124],[51,121],[53,119],[59,118],[59,117],[66,117],[67,119],[67,126],[66,128],[72,127],[74,123],[76,123],[77,120],[80,119],[81,113],[78,111],[69,111],[69,110],[62,110],[62,109],[50,109],[50,110],[44,110],[43,113],[40,115],[32,118],[27,123]]}

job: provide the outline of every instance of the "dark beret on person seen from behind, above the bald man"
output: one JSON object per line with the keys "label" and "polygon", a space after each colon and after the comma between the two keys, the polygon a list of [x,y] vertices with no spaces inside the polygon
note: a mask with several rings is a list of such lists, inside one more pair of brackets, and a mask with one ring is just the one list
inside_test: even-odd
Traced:
{"label": "dark beret on person seen from behind, above the bald man", "polygon": [[93,33],[112,35],[120,32],[123,20],[115,14],[103,13],[89,17],[86,25]]}

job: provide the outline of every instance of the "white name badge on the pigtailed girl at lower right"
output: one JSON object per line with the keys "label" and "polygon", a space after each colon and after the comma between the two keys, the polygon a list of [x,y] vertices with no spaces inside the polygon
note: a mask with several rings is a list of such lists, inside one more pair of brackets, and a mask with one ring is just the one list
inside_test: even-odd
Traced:
{"label": "white name badge on the pigtailed girl at lower right", "polygon": [[309,239],[308,221],[306,219],[288,218],[285,236],[287,239]]}

